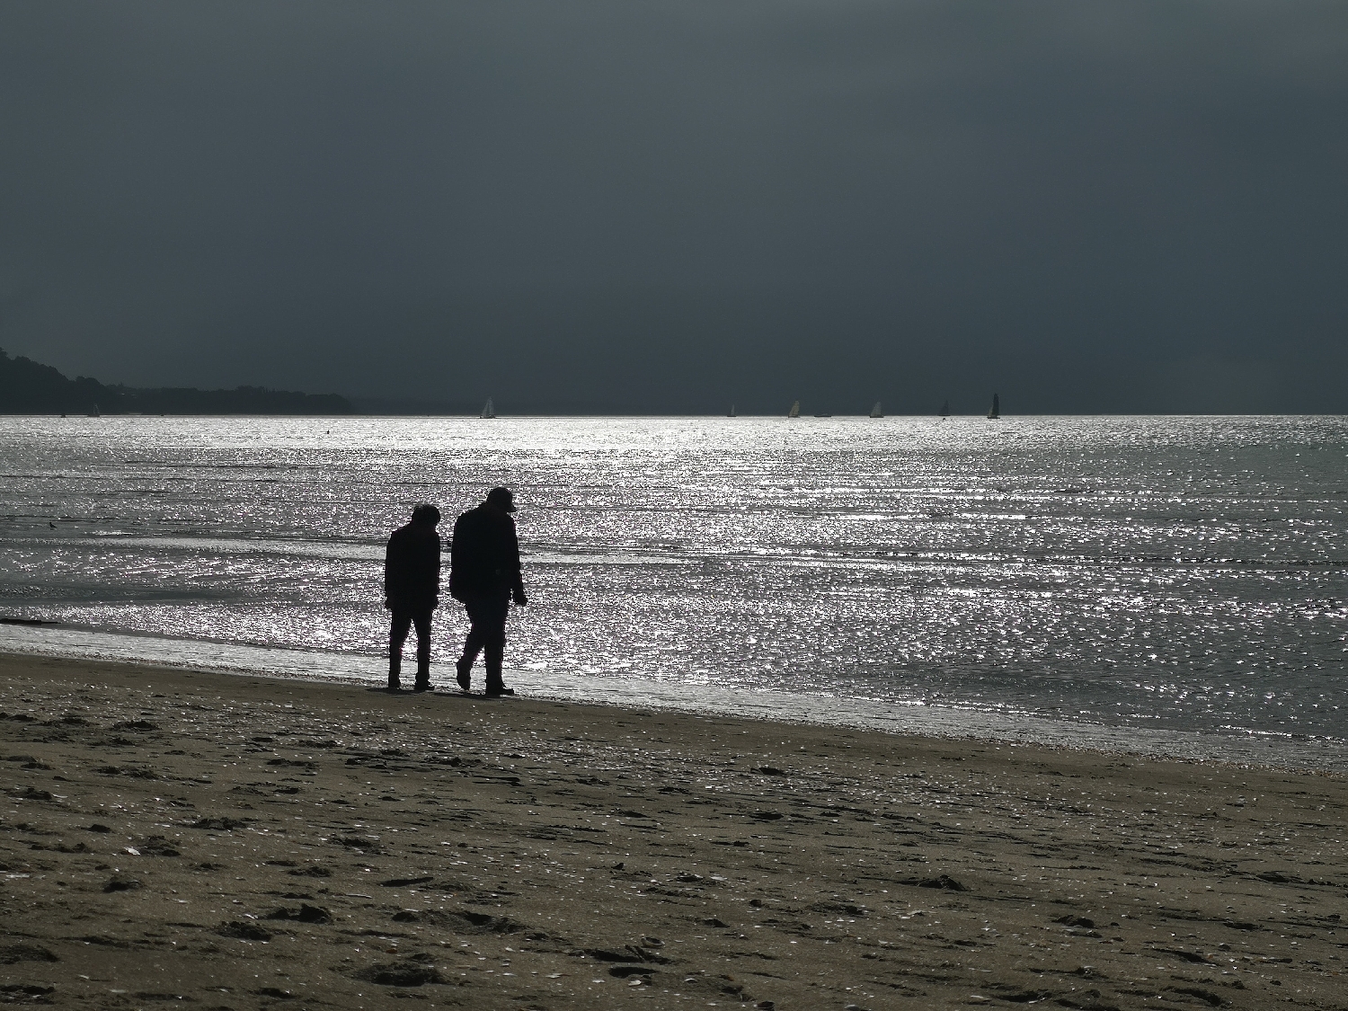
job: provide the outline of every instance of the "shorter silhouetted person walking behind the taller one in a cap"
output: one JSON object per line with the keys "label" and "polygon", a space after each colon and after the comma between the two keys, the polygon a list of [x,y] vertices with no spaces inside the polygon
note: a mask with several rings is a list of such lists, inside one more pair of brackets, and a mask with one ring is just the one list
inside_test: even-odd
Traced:
{"label": "shorter silhouetted person walking behind the taller one in a cap", "polygon": [[439,605],[439,510],[422,503],[412,519],[394,531],[384,551],[384,607],[388,628],[388,690],[402,687],[403,643],[417,625],[418,692],[430,690],[430,617]]}

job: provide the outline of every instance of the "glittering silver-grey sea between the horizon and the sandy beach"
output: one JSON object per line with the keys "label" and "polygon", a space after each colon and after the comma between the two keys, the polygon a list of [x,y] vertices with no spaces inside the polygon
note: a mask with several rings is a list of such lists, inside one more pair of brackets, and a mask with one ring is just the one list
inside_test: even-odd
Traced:
{"label": "glittering silver-grey sea between the horizon and the sandy beach", "polygon": [[4,651],[377,685],[388,534],[507,485],[520,694],[1348,768],[1343,417],[5,417],[0,473]]}

